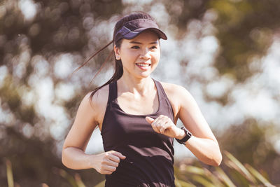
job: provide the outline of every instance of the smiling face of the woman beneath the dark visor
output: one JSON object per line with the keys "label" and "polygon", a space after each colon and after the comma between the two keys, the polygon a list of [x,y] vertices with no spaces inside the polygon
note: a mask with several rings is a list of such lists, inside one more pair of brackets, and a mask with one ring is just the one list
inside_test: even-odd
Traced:
{"label": "smiling face of the woman beneath the dark visor", "polygon": [[123,75],[146,78],[160,60],[158,35],[144,31],[131,40],[123,39],[120,48],[114,48],[117,60],[123,62]]}

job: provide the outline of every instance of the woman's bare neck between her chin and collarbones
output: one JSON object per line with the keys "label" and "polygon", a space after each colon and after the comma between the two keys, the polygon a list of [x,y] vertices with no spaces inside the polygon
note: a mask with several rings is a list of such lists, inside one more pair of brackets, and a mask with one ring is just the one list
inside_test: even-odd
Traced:
{"label": "woman's bare neck between her chin and collarbones", "polygon": [[118,80],[118,92],[131,92],[136,95],[147,95],[155,88],[155,83],[151,76],[147,78],[132,78],[122,76]]}

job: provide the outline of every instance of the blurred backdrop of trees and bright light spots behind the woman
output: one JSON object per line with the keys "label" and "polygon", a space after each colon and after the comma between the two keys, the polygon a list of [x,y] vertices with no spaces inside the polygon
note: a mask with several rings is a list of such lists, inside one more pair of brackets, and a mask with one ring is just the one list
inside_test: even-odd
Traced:
{"label": "blurred backdrop of trees and bright light spots behind the woman", "polygon": [[[104,180],[94,169],[67,169],[61,152],[81,99],[113,75],[111,60],[90,84],[113,46],[69,75],[132,11],[150,13],[168,37],[153,78],[188,89],[222,151],[279,184],[279,10],[277,0],[1,0],[0,186],[11,173],[15,186]],[[174,147],[178,168],[202,165]],[[87,153],[102,151],[95,130]]]}

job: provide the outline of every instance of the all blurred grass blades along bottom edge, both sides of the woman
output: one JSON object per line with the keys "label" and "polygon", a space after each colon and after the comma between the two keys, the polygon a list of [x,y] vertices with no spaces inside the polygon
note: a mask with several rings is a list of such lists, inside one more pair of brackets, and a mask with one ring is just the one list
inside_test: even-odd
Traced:
{"label": "all blurred grass blades along bottom edge, both sides of the woman", "polygon": [[[212,171],[200,166],[181,165],[180,169],[174,167],[176,187],[195,187],[195,186],[274,186],[257,169],[248,164],[242,164],[231,153],[224,151],[225,168],[214,167]],[[8,187],[14,187],[13,169],[10,160],[6,160],[6,173]],[[79,174],[72,176],[64,169],[56,169],[56,174],[68,181],[70,186],[85,187]],[[102,187],[105,181],[98,183],[95,187]],[[48,184],[42,183],[48,187]]]}

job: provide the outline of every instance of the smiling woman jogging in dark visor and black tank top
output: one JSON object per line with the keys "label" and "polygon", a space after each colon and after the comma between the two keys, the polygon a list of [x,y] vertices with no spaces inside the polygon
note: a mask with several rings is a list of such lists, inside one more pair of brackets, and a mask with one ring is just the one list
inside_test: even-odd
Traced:
{"label": "smiling woman jogging in dark visor and black tank top", "polygon": [[[160,60],[160,39],[167,36],[146,13],[117,22],[115,73],[80,103],[62,151],[66,167],[94,168],[106,174],[106,186],[175,186],[174,138],[202,162],[220,165],[218,142],[190,93],[151,78]],[[176,127],[178,118],[186,128]],[[105,152],[87,155],[97,126]]]}

